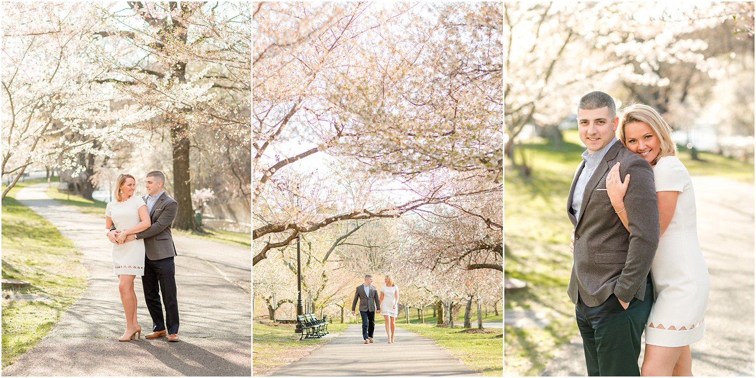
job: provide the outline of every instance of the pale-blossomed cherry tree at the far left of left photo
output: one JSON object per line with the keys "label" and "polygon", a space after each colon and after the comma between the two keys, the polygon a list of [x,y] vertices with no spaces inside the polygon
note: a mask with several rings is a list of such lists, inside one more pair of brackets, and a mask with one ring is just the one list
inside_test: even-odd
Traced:
{"label": "pale-blossomed cherry tree at the far left of left photo", "polygon": [[2,175],[11,184],[34,164],[82,172],[81,153],[102,156],[128,138],[124,111],[111,107],[112,85],[88,58],[99,20],[67,2],[2,5]]}

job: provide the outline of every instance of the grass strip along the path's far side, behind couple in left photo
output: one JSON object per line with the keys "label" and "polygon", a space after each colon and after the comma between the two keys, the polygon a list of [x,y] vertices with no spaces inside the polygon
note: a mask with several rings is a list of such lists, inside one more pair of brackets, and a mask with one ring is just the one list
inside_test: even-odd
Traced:
{"label": "grass strip along the path's far side, behind couple in left photo", "polygon": [[[59,200],[65,205],[76,206],[80,212],[85,212],[90,215],[101,216],[104,219],[105,206],[107,206],[107,203],[104,203],[98,200],[87,200],[84,197],[76,196],[74,194],[61,193],[60,191],[57,190],[56,185],[51,185],[50,187],[48,187],[48,190],[46,193],[51,198],[54,198],[55,200]],[[251,241],[252,237],[250,236],[249,233],[215,230],[211,228],[205,228],[205,231],[207,232],[207,234],[198,234],[198,233],[195,233],[194,231],[177,230],[174,228],[172,229],[171,232],[176,235],[181,235],[184,237],[197,237],[201,239],[213,240],[213,241],[218,241],[218,242],[227,243],[227,244],[252,246],[252,241]]]}

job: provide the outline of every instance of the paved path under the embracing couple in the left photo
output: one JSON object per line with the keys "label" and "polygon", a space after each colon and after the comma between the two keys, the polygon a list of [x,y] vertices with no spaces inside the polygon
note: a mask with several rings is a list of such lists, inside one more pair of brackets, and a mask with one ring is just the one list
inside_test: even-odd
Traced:
{"label": "paved path under the embracing couple in the left photo", "polygon": [[[249,248],[174,236],[181,342],[144,339],[152,327],[141,278],[135,280],[142,339],[119,342],[125,329],[104,215],[78,212],[46,194],[47,184],[16,199],[73,240],[87,270],[87,289],[36,347],[3,376],[249,376]],[[66,274],[61,271],[60,274]]]}

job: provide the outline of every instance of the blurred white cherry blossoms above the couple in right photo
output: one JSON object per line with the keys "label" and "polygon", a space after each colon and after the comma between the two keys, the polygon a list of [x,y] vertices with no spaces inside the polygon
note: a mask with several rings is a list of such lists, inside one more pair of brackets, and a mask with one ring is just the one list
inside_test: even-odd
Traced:
{"label": "blurred white cherry blossoms above the couple in right photo", "polygon": [[[706,53],[717,42],[696,31],[733,18],[746,29],[753,22],[752,8],[727,3],[506,2],[503,16],[505,151],[512,160],[525,125],[560,122],[591,89],[640,86],[684,100],[685,77],[665,67],[722,72],[723,62]],[[596,17],[602,22],[585,22]]]}

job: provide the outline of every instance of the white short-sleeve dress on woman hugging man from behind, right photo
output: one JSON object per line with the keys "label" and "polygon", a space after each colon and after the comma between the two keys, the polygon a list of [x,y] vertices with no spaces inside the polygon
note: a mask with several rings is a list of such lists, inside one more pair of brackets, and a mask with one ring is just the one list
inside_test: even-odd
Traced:
{"label": "white short-sleeve dress on woman hugging man from behind, right photo", "polygon": [[[680,194],[651,264],[656,301],[646,323],[646,344],[684,346],[704,336],[709,293],[708,268],[696,232],[696,195],[688,170],[677,156],[658,160],[654,181],[656,191]],[[665,329],[657,328],[660,324]]]}

